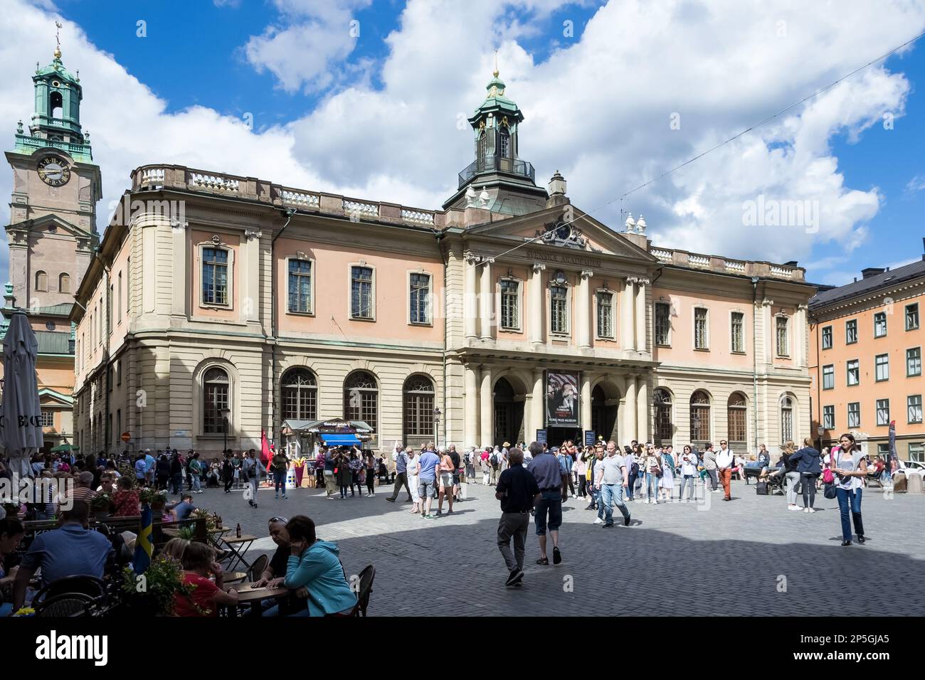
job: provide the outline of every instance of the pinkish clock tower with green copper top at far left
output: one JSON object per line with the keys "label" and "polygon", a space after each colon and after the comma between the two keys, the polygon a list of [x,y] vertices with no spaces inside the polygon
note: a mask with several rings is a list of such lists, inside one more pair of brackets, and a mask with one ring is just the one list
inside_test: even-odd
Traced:
{"label": "pinkish clock tower with green copper top at far left", "polygon": [[16,305],[32,315],[64,311],[64,304],[69,312],[99,241],[96,202],[102,197],[90,134],[80,126],[80,72],[65,68],[60,44],[51,64],[35,67],[29,129],[20,121],[16,144],[6,152],[13,168],[9,278]]}

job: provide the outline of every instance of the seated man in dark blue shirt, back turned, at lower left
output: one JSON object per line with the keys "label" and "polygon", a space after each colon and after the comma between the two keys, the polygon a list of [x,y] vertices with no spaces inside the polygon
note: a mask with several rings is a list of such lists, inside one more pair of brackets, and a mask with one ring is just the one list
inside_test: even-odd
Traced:
{"label": "seated man in dark blue shirt, back turned, at lower left", "polygon": [[13,611],[26,598],[26,587],[41,567],[42,587],[66,576],[103,578],[113,547],[98,531],[85,528],[90,517],[86,501],[74,501],[70,510],[60,515],[60,527],[39,534],[22,557],[13,584]]}

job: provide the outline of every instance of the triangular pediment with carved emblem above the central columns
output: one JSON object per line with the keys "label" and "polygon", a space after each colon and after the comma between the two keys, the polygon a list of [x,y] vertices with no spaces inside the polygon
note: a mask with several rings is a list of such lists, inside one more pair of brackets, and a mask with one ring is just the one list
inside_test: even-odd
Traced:
{"label": "triangular pediment with carved emblem above the central columns", "polygon": [[[557,226],[566,223],[571,229],[549,235]],[[536,245],[659,263],[657,257],[573,205],[558,205],[529,215],[475,225],[466,229],[466,234],[520,243],[536,239]],[[543,238],[543,234],[548,236]]]}

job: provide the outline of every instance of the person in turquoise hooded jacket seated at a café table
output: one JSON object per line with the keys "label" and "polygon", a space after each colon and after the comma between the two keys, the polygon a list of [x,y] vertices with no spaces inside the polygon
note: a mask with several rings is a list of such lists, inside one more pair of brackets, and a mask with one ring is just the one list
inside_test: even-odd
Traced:
{"label": "person in turquoise hooded jacket seated at a caf\u00e9 table", "polygon": [[[314,522],[298,514],[286,524],[290,538],[290,557],[283,585],[306,598],[307,609],[292,616],[349,616],[356,606],[356,595],[347,583],[336,543],[318,540]],[[266,616],[277,616],[277,607]]]}

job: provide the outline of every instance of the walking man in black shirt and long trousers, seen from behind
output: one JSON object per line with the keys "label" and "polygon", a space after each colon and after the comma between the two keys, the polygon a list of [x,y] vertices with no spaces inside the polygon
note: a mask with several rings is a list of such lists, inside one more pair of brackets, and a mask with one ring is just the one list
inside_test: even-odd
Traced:
{"label": "walking man in black shirt and long trousers, seen from behind", "polygon": [[[539,486],[536,478],[524,467],[524,451],[512,449],[508,452],[511,467],[504,470],[495,488],[495,498],[501,501],[501,519],[498,523],[498,550],[507,564],[508,575],[505,586],[520,586],[524,582],[524,552],[526,551],[526,530],[530,525],[530,509],[539,500]],[[511,538],[514,550],[511,551]]]}

